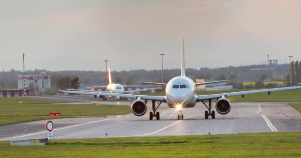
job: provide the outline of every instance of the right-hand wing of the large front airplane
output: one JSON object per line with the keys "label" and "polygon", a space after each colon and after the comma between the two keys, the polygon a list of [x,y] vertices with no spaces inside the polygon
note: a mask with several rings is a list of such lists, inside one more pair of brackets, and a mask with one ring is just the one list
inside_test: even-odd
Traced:
{"label": "right-hand wing of the large front airplane", "polygon": [[210,95],[199,95],[197,102],[208,100],[208,99],[217,99],[221,98],[222,96],[235,96],[235,95],[245,95],[245,94],[253,94],[253,93],[262,93],[268,92],[268,94],[272,91],[280,91],[280,90],[291,90],[291,89],[300,89],[301,86],[295,87],[283,87],[283,88],[272,88],[272,89],[260,89],[260,90],[249,90],[249,91],[242,91],[242,92],[231,92],[231,93],[221,93],[221,94],[210,94]]}

